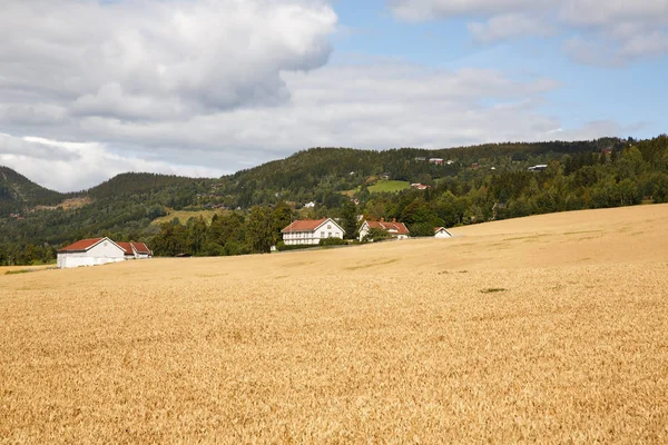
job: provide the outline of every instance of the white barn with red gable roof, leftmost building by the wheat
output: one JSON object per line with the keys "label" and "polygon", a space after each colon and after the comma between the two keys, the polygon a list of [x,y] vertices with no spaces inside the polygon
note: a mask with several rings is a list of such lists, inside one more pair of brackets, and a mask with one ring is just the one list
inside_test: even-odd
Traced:
{"label": "white barn with red gable roof, leftmost building by the wheat", "polygon": [[82,239],[58,250],[58,267],[99,266],[125,260],[125,249],[109,238]]}

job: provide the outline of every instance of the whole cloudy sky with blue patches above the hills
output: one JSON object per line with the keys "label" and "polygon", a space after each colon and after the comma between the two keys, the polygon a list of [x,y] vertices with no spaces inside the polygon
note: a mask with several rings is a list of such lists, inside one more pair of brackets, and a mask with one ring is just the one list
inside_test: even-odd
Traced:
{"label": "whole cloudy sky with blue patches above the hills", "polygon": [[2,0],[0,165],[59,191],[310,147],[666,132],[668,0]]}

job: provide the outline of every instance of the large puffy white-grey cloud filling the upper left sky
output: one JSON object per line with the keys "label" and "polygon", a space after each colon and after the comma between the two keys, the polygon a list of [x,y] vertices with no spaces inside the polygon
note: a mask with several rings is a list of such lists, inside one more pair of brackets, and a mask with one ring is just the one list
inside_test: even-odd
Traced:
{"label": "large puffy white-grey cloud filling the upper left sky", "polygon": [[282,71],[323,66],[336,14],[320,1],[6,0],[0,91],[77,113],[181,117],[288,99]]}

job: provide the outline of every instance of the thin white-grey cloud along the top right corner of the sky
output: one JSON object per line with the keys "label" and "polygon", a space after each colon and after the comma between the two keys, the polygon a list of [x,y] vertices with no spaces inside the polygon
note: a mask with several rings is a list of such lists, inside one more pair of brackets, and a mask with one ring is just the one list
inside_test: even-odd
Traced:
{"label": "thin white-grey cloud along the top right corner of the sky", "polygon": [[560,30],[567,55],[582,63],[615,66],[668,53],[668,0],[389,1],[403,20],[465,18],[472,38],[483,43]]}

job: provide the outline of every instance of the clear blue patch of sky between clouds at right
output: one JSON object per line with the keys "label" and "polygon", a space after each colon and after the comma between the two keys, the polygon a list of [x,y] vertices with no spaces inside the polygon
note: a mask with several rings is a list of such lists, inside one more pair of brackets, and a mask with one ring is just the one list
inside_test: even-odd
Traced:
{"label": "clear blue patch of sky between clouds at right", "polygon": [[561,87],[546,93],[547,102],[540,110],[558,116],[567,127],[613,120],[628,135],[610,136],[652,137],[666,132],[665,55],[622,66],[586,65],[564,55],[560,36],[480,44],[473,41],[463,17],[405,21],[394,17],[382,0],[338,0],[334,8],[344,31],[334,39],[333,62],[363,53],[433,68],[477,67],[517,77],[544,76],[558,80]]}

